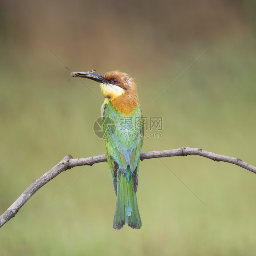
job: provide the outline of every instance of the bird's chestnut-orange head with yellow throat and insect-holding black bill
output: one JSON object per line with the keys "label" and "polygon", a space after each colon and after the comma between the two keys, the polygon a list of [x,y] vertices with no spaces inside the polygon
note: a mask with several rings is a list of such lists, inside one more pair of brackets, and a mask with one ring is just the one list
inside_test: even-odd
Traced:
{"label": "bird's chestnut-orange head with yellow throat and insect-holding black bill", "polygon": [[99,75],[92,72],[72,72],[74,77],[85,77],[100,83],[106,102],[111,102],[119,111],[127,115],[138,106],[136,84],[131,77],[120,71],[110,71]]}

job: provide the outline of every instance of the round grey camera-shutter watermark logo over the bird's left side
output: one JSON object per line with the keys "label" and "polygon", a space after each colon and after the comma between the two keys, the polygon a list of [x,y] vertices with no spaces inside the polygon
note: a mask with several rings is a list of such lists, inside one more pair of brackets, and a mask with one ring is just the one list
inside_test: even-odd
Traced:
{"label": "round grey camera-shutter watermark logo over the bird's left side", "polygon": [[99,117],[93,124],[94,134],[101,139],[108,139],[113,136],[115,129],[115,122],[109,117]]}

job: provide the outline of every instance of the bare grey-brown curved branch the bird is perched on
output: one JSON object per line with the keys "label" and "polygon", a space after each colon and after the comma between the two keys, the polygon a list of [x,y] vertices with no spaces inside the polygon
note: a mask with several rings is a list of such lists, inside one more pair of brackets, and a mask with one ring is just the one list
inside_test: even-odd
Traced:
{"label": "bare grey-brown curved branch the bird is perched on", "polygon": [[[256,167],[249,165],[248,163],[243,162],[241,159],[235,157],[228,157],[224,155],[214,154],[203,149],[196,148],[179,148],[179,149],[170,149],[163,151],[151,151],[146,153],[141,153],[141,160],[150,159],[150,158],[159,158],[159,157],[174,157],[174,156],[187,156],[187,155],[199,155],[203,157],[210,158],[217,162],[227,162],[238,165],[242,168],[245,168],[249,171],[256,173]],[[0,216],[0,227],[2,227],[7,221],[13,218],[20,208],[27,202],[27,200],[36,192],[39,188],[49,182],[51,179],[59,175],[61,172],[71,169],[75,166],[92,166],[94,163],[106,162],[106,155],[100,155],[95,157],[87,158],[77,158],[73,159],[71,155],[66,155],[60,163],[51,168],[46,172],[42,177],[34,180],[32,184],[21,194],[21,196],[7,209],[5,213]]]}

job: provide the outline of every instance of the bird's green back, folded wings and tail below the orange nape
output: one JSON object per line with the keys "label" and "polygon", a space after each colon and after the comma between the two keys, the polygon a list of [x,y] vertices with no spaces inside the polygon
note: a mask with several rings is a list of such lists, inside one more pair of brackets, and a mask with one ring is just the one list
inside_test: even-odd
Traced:
{"label": "bird's green back, folded wings and tail below the orange nape", "polygon": [[[111,120],[109,119],[111,118]],[[129,124],[125,123],[130,120]],[[113,121],[112,121],[113,120]],[[116,200],[114,228],[120,229],[125,222],[132,228],[141,227],[136,191],[138,187],[139,161],[143,143],[143,123],[140,107],[126,117],[111,103],[106,104],[103,115],[105,139],[110,175]]]}

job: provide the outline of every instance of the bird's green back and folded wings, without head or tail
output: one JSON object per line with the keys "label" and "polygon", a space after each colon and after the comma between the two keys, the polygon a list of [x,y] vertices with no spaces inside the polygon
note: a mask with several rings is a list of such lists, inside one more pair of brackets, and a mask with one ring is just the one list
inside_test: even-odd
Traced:
{"label": "bird's green back and folded wings, without head or tail", "polygon": [[[107,117],[111,118],[113,122],[108,120]],[[132,173],[136,171],[134,173],[136,176],[134,182],[137,185],[138,163],[143,143],[143,123],[140,123],[143,120],[141,109],[138,106],[132,115],[125,117],[116,111],[112,105],[107,104],[104,109],[104,118],[103,129],[106,134],[112,134],[105,139],[106,154],[112,180],[115,182],[116,168],[126,173],[127,166],[130,166]],[[130,118],[127,126],[122,124],[122,122],[125,122],[125,118]]]}

